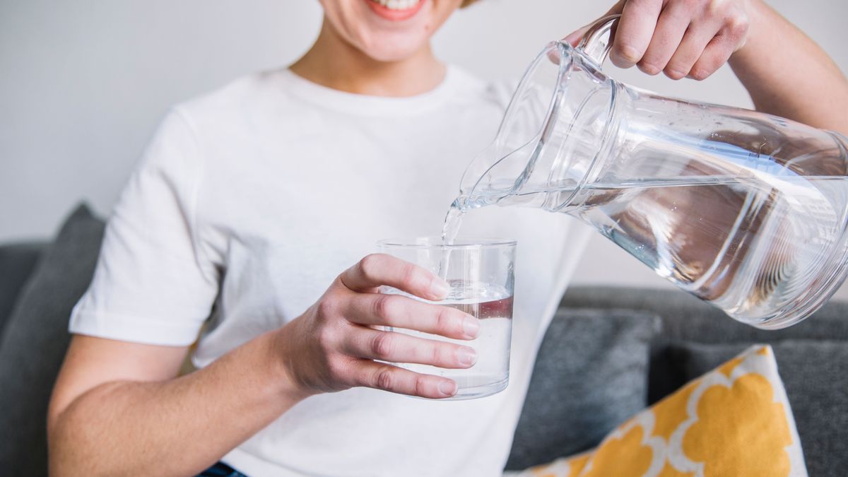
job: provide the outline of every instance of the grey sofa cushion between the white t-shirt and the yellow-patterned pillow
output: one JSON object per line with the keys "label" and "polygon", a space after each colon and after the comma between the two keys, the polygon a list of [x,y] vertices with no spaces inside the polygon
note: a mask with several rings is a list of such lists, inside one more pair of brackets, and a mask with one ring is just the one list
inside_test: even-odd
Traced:
{"label": "grey sofa cushion between the white t-shirt and the yellow-patterned pillow", "polygon": [[655,315],[623,310],[558,313],[538,351],[506,469],[526,469],[596,446],[645,407]]}

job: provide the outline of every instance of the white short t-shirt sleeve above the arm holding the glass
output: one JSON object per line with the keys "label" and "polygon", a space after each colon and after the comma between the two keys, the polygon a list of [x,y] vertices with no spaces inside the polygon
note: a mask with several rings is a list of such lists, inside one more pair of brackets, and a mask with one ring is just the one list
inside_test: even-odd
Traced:
{"label": "white short t-shirt sleeve above the arm holding the glass", "polygon": [[132,173],[103,237],[70,332],[153,345],[189,345],[218,291],[198,240],[203,180],[197,137],[172,109]]}

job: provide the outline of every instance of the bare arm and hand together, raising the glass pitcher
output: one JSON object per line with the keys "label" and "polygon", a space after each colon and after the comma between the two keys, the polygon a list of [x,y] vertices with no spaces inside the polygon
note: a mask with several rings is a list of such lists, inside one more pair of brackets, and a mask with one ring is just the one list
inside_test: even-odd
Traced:
{"label": "bare arm and hand together, raising the glass pitcher", "polygon": [[622,14],[610,54],[620,68],[703,80],[729,60],[756,109],[848,134],[845,76],[763,0],[620,0],[607,14]]}

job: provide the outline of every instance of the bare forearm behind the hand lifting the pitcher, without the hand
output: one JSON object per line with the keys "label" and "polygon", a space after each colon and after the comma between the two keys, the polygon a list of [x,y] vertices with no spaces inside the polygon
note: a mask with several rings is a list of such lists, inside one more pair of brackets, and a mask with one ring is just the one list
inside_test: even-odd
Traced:
{"label": "bare forearm behind the hand lifting the pitcher, without the hand", "polygon": [[762,0],[730,66],[756,109],[848,134],[848,81],[828,54]]}

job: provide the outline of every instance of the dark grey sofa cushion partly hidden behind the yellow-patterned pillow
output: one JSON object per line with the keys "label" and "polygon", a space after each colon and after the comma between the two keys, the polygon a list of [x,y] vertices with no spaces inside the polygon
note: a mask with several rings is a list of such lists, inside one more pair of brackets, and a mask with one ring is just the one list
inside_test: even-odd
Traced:
{"label": "dark grey sofa cushion partly hidden behind the yellow-patterned pillow", "polygon": [[[848,342],[786,340],[772,345],[810,475],[848,469]],[[675,343],[668,356],[691,379],[745,349],[741,344]]]}

